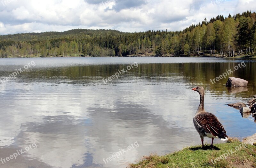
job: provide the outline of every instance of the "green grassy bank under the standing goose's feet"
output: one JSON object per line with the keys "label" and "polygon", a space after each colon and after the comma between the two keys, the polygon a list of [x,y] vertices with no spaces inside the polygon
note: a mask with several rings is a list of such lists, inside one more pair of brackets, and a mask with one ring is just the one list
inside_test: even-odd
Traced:
{"label": "green grassy bank under the standing goose's feet", "polygon": [[[240,148],[241,146],[241,148]],[[236,150],[239,147],[239,150]],[[228,155],[228,151],[234,153]],[[229,152],[231,153],[231,152]],[[228,155],[225,159],[221,156]],[[217,161],[217,158],[220,161]],[[215,163],[214,163],[215,159]],[[206,144],[202,149],[200,146],[186,147],[180,151],[164,156],[150,154],[143,157],[138,163],[129,164],[128,168],[256,168],[256,146],[247,145],[238,138],[229,138],[227,143],[214,144],[212,148]]]}

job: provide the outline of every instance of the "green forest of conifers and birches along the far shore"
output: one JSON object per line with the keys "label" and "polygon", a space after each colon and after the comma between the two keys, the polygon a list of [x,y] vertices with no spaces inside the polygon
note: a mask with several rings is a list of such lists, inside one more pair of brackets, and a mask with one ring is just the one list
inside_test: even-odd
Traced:
{"label": "green forest of conifers and birches along the far shore", "polygon": [[256,50],[256,13],[245,11],[192,24],[183,31],[66,32],[0,35],[0,57],[209,56],[234,57]]}

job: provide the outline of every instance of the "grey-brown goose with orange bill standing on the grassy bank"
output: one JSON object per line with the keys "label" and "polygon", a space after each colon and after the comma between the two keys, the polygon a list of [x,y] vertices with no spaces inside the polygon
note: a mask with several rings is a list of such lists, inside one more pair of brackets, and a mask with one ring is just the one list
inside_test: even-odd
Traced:
{"label": "grey-brown goose with orange bill standing on the grassy bank", "polygon": [[212,138],[212,147],[214,138],[219,138],[222,141],[227,141],[227,132],[218,120],[218,118],[212,113],[208,113],[204,110],[204,88],[202,86],[198,86],[196,88],[192,88],[192,90],[198,92],[200,95],[200,104],[197,108],[193,122],[196,131],[201,137],[203,148],[205,136],[208,138]]}

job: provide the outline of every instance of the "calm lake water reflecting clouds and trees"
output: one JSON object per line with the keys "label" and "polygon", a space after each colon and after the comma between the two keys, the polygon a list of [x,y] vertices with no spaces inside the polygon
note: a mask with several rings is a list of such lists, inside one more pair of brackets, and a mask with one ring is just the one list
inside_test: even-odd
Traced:
{"label": "calm lake water reflecting clouds and trees", "polygon": [[[227,79],[212,84],[242,61],[246,67],[230,76],[249,81],[247,88],[228,90]],[[242,139],[256,130],[252,116],[227,106],[256,94],[253,59],[8,58],[0,59],[0,79],[20,68],[16,78],[0,81],[0,158],[6,161],[0,167],[119,168],[150,152],[201,144],[193,125],[199,94],[191,90],[198,85],[205,88],[205,110],[228,136]],[[21,149],[27,151],[6,160]]]}

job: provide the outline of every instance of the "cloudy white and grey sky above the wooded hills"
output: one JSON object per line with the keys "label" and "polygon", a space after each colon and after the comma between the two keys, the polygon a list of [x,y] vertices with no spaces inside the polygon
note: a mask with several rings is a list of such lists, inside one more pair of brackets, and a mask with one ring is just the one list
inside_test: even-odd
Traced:
{"label": "cloudy white and grey sky above the wooded hills", "polygon": [[217,15],[256,11],[256,0],[0,0],[0,34],[114,29],[183,30]]}

